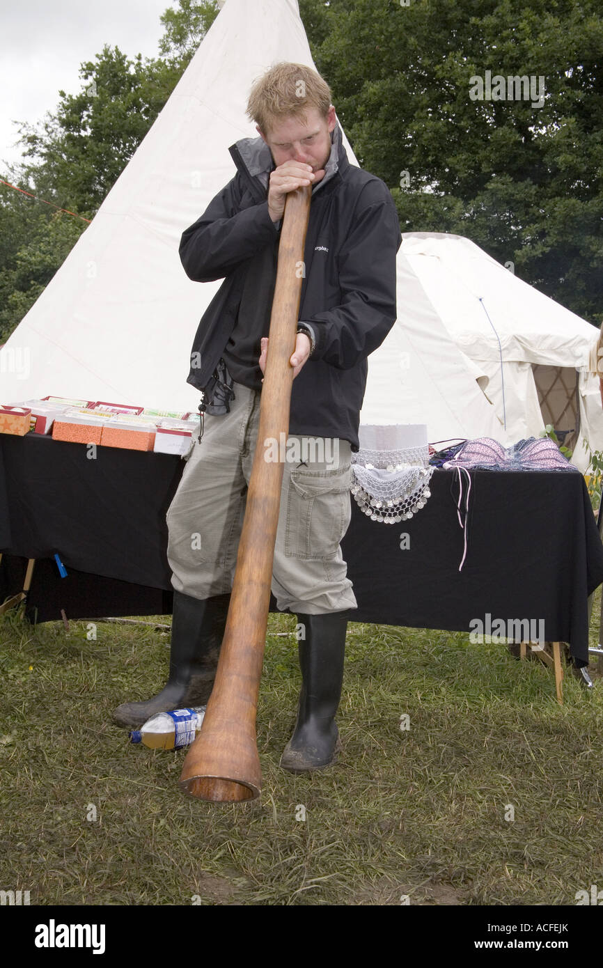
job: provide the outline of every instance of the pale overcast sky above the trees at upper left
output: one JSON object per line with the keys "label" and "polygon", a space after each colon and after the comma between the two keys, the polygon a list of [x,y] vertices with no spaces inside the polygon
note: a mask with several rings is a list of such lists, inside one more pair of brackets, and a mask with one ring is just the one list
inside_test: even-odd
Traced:
{"label": "pale overcast sky above the trees at upper left", "polygon": [[[0,0],[0,171],[17,162],[13,120],[34,124],[75,94],[82,61],[103,46],[155,57],[171,0]],[[1,175],[0,175],[1,177]]]}

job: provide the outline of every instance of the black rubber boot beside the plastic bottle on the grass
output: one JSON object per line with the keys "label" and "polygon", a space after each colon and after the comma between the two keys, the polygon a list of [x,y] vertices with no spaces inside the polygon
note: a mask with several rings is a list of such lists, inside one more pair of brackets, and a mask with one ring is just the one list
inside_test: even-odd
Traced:
{"label": "black rubber boot beside the plastic bottle on the grass", "polygon": [[113,722],[141,726],[156,712],[207,703],[216,678],[229,602],[229,592],[200,599],[174,591],[166,685],[146,702],[122,703],[113,712]]}

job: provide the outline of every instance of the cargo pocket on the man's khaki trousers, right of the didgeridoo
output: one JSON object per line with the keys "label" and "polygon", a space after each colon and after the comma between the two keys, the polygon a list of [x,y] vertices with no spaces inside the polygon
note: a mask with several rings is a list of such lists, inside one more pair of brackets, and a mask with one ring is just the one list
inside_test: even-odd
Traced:
{"label": "cargo pocket on the man's khaki trousers, right of the didgeridoo", "polygon": [[287,558],[334,558],[351,518],[351,467],[292,470],[286,504]]}

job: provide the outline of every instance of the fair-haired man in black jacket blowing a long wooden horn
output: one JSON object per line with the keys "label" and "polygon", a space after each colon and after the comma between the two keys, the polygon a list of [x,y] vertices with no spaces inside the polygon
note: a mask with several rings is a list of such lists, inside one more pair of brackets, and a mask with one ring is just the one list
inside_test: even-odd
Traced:
{"label": "fair-haired man in black jacket blowing a long wooden horn", "polygon": [[225,282],[196,332],[188,381],[201,392],[201,429],[167,512],[169,677],[158,696],[123,704],[114,716],[139,725],[205,702],[211,691],[256,447],[281,221],[287,194],[312,185],[289,361],[293,458],[283,474],[272,581],[279,609],[295,613],[300,628],[302,689],[281,766],[311,771],[329,766],[339,749],[347,612],[357,608],[340,548],[351,515],[350,458],[367,357],[396,318],[401,235],[386,186],[349,165],[331,92],[315,71],[276,65],[256,81],[248,114],[259,136],[230,148],[235,176],[180,244],[191,279]]}

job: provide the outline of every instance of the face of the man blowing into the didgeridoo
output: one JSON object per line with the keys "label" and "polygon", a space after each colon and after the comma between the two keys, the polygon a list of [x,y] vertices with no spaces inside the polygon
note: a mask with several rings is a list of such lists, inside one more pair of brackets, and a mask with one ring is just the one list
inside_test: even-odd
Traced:
{"label": "face of the man blowing into the didgeridoo", "polygon": [[305,122],[289,116],[275,121],[267,133],[257,127],[256,131],[270,148],[277,167],[294,161],[312,165],[313,171],[319,171],[328,161],[335,125],[335,108],[331,105],[326,117],[317,107],[310,107]]}

